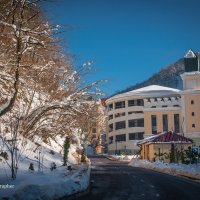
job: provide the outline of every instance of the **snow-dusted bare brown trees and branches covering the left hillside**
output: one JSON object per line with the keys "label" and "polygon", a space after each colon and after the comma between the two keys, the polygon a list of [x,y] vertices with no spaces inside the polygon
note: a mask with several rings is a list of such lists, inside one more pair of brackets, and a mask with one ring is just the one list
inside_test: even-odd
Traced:
{"label": "snow-dusted bare brown trees and branches covering the left hillside", "polygon": [[20,135],[47,141],[82,129],[80,116],[96,117],[92,96],[102,80],[82,84],[92,62],[73,69],[55,37],[59,26],[51,26],[37,2],[1,0],[0,121],[17,120]]}

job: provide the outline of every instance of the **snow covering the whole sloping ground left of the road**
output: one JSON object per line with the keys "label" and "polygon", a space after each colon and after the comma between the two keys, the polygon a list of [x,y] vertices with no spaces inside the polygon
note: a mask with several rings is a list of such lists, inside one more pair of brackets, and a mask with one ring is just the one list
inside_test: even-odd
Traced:
{"label": "snow covering the whole sloping ground left of the road", "polygon": [[[38,143],[42,144],[42,148],[38,147]],[[22,152],[18,163],[16,180],[11,179],[11,171],[5,161],[0,161],[0,199],[9,197],[9,200],[51,200],[87,189],[90,164],[79,164],[80,157],[76,153],[77,145],[71,144],[68,164],[72,166],[72,170],[67,170],[67,167],[62,165],[62,144],[61,138],[58,142],[51,141],[50,144],[39,140],[37,143],[27,140],[25,151]],[[0,139],[0,147],[2,146]],[[3,148],[6,150],[5,146]],[[40,169],[38,169],[39,148],[41,152]],[[53,162],[56,164],[56,169],[51,171],[50,167]],[[34,171],[29,170],[30,163],[33,163]]]}

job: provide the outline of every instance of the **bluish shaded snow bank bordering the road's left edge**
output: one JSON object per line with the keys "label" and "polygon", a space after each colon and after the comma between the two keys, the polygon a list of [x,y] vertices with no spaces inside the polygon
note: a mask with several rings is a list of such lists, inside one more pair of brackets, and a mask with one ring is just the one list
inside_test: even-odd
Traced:
{"label": "bluish shaded snow bank bordering the road's left edge", "polygon": [[[39,175],[42,180],[44,175]],[[35,182],[25,186],[13,195],[16,200],[54,200],[68,196],[88,188],[90,177],[90,167],[82,165],[76,172],[67,172],[62,167],[59,173],[46,177],[45,182]]]}

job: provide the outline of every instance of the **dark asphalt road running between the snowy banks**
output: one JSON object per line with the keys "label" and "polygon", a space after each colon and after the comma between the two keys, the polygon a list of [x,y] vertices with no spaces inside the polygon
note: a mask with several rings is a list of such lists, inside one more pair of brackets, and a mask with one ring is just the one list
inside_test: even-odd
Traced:
{"label": "dark asphalt road running between the snowy banks", "polygon": [[91,192],[79,200],[200,200],[200,183],[93,157]]}

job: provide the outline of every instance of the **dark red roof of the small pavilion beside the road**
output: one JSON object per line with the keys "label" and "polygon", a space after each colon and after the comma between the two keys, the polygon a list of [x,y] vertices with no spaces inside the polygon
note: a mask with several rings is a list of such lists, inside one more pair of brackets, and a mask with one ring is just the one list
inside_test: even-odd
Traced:
{"label": "dark red roof of the small pavilion beside the road", "polygon": [[193,141],[189,138],[186,138],[180,134],[174,133],[172,131],[163,132],[157,135],[153,135],[145,138],[144,140],[138,142],[138,145],[141,144],[152,144],[152,143],[184,143],[191,144]]}

